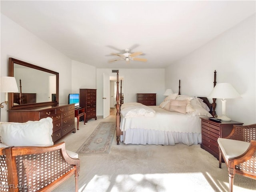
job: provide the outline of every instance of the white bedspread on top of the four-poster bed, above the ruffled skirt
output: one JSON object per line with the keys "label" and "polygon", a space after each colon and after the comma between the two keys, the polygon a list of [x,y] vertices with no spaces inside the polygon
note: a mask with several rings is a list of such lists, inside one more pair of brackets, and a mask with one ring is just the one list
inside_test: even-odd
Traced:
{"label": "white bedspread on top of the four-poster bed, above the ruffled skirt", "polygon": [[169,112],[159,106],[148,107],[156,112],[153,117],[138,116],[134,118],[121,118],[121,131],[139,128],[145,130],[201,134],[201,116]]}

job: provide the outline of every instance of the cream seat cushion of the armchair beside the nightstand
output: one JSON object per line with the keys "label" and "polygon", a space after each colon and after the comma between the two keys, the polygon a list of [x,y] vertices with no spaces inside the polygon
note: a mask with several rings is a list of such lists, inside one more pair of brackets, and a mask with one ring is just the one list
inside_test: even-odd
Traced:
{"label": "cream seat cushion of the armchair beside the nightstand", "polygon": [[218,144],[226,160],[242,155],[250,146],[249,142],[225,138],[218,138]]}

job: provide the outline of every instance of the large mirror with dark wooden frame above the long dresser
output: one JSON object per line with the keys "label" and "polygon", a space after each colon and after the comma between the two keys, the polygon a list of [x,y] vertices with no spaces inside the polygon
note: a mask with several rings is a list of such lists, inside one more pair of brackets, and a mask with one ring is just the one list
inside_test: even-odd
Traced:
{"label": "large mirror with dark wooden frame above the long dresser", "polygon": [[19,89],[8,93],[9,110],[58,104],[58,72],[9,58],[9,76],[15,77]]}

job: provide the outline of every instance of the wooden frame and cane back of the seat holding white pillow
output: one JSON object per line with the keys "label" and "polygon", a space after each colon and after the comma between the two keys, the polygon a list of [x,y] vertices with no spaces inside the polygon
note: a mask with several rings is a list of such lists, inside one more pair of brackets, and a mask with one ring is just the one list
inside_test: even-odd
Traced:
{"label": "wooden frame and cane back of the seat holding white pillow", "polygon": [[68,156],[64,142],[0,148],[0,162],[1,192],[51,191],[72,175],[78,192],[80,160]]}

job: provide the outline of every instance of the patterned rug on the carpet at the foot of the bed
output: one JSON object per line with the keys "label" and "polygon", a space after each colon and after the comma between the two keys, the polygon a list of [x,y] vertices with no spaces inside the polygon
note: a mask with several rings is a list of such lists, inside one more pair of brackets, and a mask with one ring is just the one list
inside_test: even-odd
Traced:
{"label": "patterned rug on the carpet at the foot of the bed", "polygon": [[100,122],[76,153],[79,155],[108,154],[115,130],[116,122]]}

